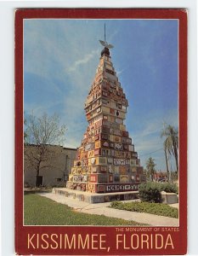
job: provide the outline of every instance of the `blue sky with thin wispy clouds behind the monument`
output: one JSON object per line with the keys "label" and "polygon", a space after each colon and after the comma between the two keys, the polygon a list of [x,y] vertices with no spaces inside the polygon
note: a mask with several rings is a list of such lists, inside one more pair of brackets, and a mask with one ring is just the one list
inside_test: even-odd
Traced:
{"label": "blue sky with thin wispy clouds behind the monument", "polygon": [[129,102],[127,131],[141,164],[151,156],[165,170],[161,129],[178,127],[178,20],[25,20],[25,113],[58,113],[67,126],[65,147],[80,146],[104,24]]}

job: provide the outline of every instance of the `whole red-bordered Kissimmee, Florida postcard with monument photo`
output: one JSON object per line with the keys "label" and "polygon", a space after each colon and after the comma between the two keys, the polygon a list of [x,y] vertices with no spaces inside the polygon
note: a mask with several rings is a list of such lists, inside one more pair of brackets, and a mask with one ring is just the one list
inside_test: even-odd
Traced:
{"label": "whole red-bordered Kissimmee, Florida postcard with monument photo", "polygon": [[186,9],[17,9],[15,253],[186,250]]}

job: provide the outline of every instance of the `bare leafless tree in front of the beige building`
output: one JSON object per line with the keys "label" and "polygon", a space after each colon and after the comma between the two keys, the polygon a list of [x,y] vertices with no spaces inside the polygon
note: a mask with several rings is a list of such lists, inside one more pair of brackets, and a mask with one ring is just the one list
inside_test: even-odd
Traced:
{"label": "bare leafless tree in front of the beige building", "polygon": [[60,125],[59,116],[48,116],[43,113],[37,117],[34,113],[25,117],[25,160],[33,166],[37,173],[36,186],[39,183],[39,175],[42,168],[50,167],[49,145],[61,145],[65,141],[65,125]]}

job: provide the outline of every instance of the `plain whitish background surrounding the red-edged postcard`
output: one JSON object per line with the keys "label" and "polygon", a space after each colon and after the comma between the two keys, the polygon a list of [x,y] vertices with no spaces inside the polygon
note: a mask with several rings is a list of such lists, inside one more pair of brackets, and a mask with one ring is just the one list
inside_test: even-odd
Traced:
{"label": "plain whitish background surrounding the red-edged postcard", "polygon": [[[148,3],[149,2],[149,3]],[[14,255],[14,9],[18,8],[187,8],[189,9],[188,72],[188,255],[198,254],[198,95],[196,0],[65,0],[0,2],[0,180],[2,255]]]}

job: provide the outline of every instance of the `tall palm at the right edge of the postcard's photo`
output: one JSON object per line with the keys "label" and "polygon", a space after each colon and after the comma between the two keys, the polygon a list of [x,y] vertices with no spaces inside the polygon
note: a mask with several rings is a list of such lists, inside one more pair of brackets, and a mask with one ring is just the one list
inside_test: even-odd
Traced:
{"label": "tall palm at the right edge of the postcard's photo", "polygon": [[[167,161],[167,153],[174,156],[178,172],[178,129],[172,125],[167,125],[161,131],[161,137],[165,137],[164,150]],[[168,166],[167,166],[168,172]]]}

